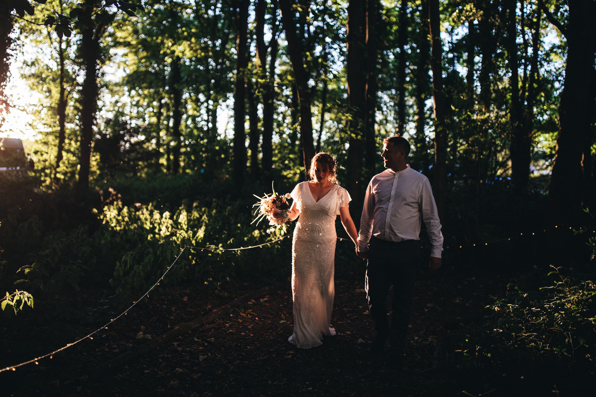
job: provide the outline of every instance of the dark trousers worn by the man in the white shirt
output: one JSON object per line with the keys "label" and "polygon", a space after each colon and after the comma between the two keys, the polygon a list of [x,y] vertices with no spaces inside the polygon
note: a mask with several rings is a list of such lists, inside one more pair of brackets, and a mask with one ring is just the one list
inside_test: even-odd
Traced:
{"label": "dark trousers worn by the man in the white shirt", "polygon": [[[393,243],[376,237],[370,241],[365,284],[368,308],[378,336],[389,337],[392,351],[403,351],[406,343],[414,280],[418,271],[419,244],[418,240]],[[391,327],[385,307],[390,286],[393,286]]]}

